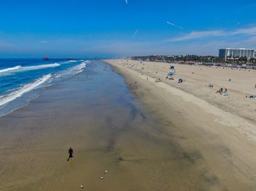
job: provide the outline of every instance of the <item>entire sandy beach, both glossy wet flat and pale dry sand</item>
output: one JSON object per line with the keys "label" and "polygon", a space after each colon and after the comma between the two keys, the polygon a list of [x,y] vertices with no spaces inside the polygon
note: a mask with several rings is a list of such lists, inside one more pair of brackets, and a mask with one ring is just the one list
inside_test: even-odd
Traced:
{"label": "entire sandy beach, both glossy wet flat and pale dry sand", "polygon": [[[145,63],[142,71],[138,61],[107,62],[122,76],[109,64],[88,64],[0,117],[0,190],[254,190],[254,118],[229,110],[235,97],[215,94],[196,72],[206,99],[189,92],[189,66],[177,65],[177,76],[188,70],[178,85],[153,78],[169,64]],[[208,103],[210,94],[216,99]],[[75,157],[67,162],[70,147]]]}

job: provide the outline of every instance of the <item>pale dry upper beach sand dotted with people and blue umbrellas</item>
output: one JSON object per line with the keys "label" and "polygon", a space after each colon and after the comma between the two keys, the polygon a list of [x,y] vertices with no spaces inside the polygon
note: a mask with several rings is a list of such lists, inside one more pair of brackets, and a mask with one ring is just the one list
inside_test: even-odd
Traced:
{"label": "pale dry upper beach sand dotted with people and blue umbrellas", "polygon": [[[255,100],[246,98],[251,94],[256,95],[256,88],[254,88],[256,70],[172,64],[175,66],[175,80],[173,81],[165,79],[166,74],[171,71],[169,63],[143,62],[145,64],[143,65],[139,61],[129,60],[127,62],[127,60],[121,59],[119,62],[122,65],[129,63],[130,65],[125,66],[139,71],[141,74],[161,79],[164,83],[206,100],[224,111],[256,121]],[[179,78],[185,79],[186,82],[177,83]],[[209,83],[214,84],[214,88],[206,87]],[[220,87],[226,87],[229,96],[223,97],[215,94]]]}

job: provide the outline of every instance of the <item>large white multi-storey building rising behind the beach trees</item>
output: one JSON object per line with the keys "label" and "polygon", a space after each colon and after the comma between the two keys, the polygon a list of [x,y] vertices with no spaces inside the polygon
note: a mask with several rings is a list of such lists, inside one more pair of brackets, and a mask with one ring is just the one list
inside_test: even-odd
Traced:
{"label": "large white multi-storey building rising behind the beach trees", "polygon": [[256,51],[254,49],[219,49],[219,58],[225,61],[227,58],[234,59],[239,57],[255,58]]}

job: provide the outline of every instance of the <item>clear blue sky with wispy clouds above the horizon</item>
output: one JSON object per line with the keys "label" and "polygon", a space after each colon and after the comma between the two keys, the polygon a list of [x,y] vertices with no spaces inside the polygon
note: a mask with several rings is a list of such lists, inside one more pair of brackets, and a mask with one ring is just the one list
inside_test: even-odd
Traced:
{"label": "clear blue sky with wispy clouds above the horizon", "polygon": [[217,55],[256,49],[256,2],[0,2],[0,57]]}

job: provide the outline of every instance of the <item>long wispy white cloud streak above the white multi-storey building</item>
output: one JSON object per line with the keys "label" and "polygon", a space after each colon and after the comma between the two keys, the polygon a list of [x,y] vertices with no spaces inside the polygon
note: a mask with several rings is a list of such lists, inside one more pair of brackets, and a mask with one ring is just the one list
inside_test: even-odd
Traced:
{"label": "long wispy white cloud streak above the white multi-storey building", "polygon": [[234,31],[224,31],[224,30],[192,31],[180,37],[167,39],[165,41],[185,41],[185,40],[202,39],[202,38],[209,38],[209,37],[232,36],[232,35],[238,35],[238,34],[256,35],[256,27],[241,28],[241,29],[236,29]]}

